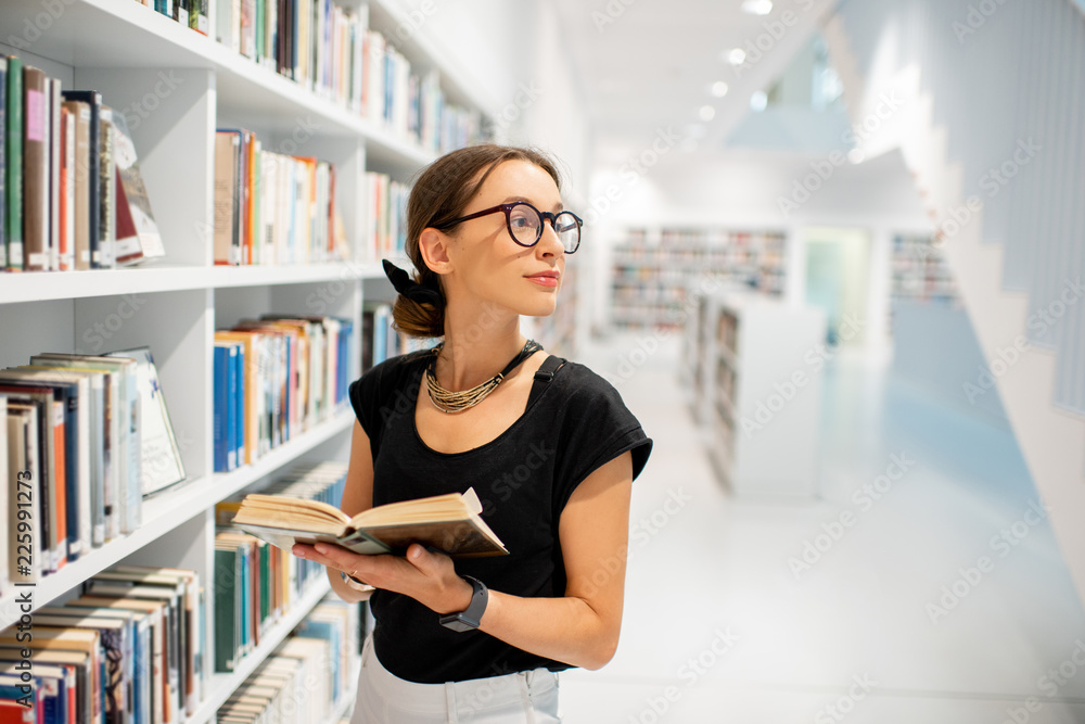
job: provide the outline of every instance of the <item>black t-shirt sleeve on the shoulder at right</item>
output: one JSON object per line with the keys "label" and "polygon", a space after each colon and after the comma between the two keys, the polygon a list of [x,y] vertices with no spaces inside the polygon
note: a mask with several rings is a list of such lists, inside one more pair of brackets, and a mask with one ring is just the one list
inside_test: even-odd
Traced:
{"label": "black t-shirt sleeve on the shoulder at right", "polygon": [[559,436],[554,520],[560,518],[573,491],[598,468],[629,450],[636,480],[652,452],[651,437],[614,385],[587,368],[571,371],[578,372],[579,379],[569,395]]}

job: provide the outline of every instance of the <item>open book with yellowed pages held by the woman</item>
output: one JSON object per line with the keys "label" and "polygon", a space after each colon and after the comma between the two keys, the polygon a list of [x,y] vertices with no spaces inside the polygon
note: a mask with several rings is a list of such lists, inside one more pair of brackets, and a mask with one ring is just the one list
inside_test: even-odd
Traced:
{"label": "open book with yellowed pages held by the woman", "polygon": [[251,493],[233,524],[286,551],[295,543],[321,542],[358,554],[404,555],[411,543],[420,543],[458,558],[507,555],[481,512],[474,488],[390,503],[354,518],[319,500]]}

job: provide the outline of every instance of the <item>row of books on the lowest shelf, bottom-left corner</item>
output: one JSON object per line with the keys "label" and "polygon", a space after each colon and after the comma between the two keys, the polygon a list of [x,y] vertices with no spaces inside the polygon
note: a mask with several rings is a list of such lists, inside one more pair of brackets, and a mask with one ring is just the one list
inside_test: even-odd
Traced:
{"label": "row of books on the lowest shelf, bottom-left corner", "polygon": [[210,675],[199,574],[118,566],[81,594],[0,632],[0,720],[180,724],[194,714]]}

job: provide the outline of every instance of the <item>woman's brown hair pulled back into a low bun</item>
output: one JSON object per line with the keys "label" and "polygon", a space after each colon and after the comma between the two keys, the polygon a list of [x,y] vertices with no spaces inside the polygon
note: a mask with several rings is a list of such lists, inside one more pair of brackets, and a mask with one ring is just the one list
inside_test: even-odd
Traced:
{"label": "woman's brown hair pulled back into a low bun", "polygon": [[[561,189],[561,177],[553,162],[535,149],[483,143],[441,156],[422,170],[407,201],[406,251],[417,269],[412,275],[414,281],[436,289],[444,295],[441,275],[425,266],[425,261],[422,258],[419,237],[422,236],[423,229],[439,227],[462,216],[463,209],[486,182],[490,172],[506,161],[526,161],[535,164],[549,174],[558,185],[558,189]],[[472,182],[475,176],[478,176],[478,180]],[[416,302],[403,294],[396,297],[392,317],[396,328],[411,336],[443,336],[445,333],[444,307]]]}

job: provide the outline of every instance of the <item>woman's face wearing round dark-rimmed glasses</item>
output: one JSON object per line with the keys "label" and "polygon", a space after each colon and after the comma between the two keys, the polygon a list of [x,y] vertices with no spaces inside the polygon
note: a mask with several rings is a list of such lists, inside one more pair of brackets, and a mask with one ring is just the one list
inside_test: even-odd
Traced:
{"label": "woman's face wearing round dark-rimmed glasses", "polygon": [[[526,161],[506,161],[490,172],[462,216],[515,201],[526,201],[540,212],[562,211],[561,194],[549,174]],[[465,293],[468,299],[529,317],[553,313],[565,250],[549,221],[542,238],[528,247],[512,240],[500,211],[463,221],[450,240],[452,271],[443,280],[450,302]]]}

